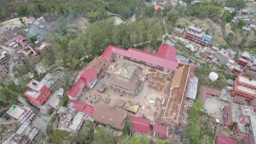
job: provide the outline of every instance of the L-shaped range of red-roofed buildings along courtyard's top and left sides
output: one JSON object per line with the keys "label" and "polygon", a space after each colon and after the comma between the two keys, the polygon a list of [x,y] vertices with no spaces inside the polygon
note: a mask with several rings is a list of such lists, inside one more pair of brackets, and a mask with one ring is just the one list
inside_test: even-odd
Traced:
{"label": "L-shaped range of red-roofed buildings along courtyard's top and left sides", "polygon": [[79,80],[67,93],[69,99],[75,100],[85,86],[94,87],[106,64],[112,61],[113,55],[119,56],[130,61],[141,62],[150,67],[155,67],[163,71],[176,70],[178,62],[174,60],[176,49],[170,45],[161,45],[156,55],[144,52],[138,49],[130,48],[129,50],[121,49],[120,47],[109,45],[100,57],[96,57],[88,64]]}

